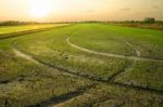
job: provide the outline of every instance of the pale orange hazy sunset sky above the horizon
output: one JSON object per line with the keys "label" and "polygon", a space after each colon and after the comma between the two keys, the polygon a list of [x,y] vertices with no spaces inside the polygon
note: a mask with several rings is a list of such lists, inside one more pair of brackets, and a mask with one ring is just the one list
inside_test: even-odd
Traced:
{"label": "pale orange hazy sunset sky above the horizon", "polygon": [[0,0],[0,21],[163,21],[163,0]]}

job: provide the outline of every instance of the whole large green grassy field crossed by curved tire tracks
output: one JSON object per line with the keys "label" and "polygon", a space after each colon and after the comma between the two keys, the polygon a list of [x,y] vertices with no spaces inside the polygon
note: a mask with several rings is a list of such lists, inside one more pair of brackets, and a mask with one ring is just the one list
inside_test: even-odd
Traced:
{"label": "whole large green grassy field crossed by curved tire tracks", "polygon": [[[0,106],[161,107],[162,35],[151,29],[77,24],[1,39]],[[67,38],[75,45],[113,56],[76,49]]]}

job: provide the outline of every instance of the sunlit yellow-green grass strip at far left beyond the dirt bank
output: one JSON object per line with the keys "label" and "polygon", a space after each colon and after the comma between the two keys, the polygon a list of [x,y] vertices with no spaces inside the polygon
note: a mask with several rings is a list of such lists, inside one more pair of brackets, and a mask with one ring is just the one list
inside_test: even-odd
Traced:
{"label": "sunlit yellow-green grass strip at far left beyond the dirt bank", "polygon": [[22,25],[22,26],[10,26],[0,27],[0,39],[9,39],[13,37],[24,36],[28,34],[46,31],[54,27],[63,27],[68,24],[41,24],[41,25]]}

